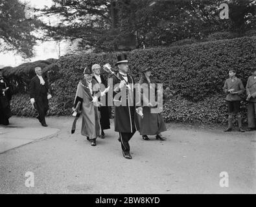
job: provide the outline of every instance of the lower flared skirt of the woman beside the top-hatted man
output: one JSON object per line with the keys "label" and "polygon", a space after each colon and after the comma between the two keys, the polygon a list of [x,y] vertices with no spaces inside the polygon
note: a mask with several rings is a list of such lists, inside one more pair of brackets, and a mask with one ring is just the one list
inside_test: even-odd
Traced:
{"label": "lower flared skirt of the woman beside the top-hatted man", "polygon": [[140,135],[158,135],[163,131],[167,131],[161,114],[150,113],[150,107],[143,107],[143,114],[143,118],[139,116]]}

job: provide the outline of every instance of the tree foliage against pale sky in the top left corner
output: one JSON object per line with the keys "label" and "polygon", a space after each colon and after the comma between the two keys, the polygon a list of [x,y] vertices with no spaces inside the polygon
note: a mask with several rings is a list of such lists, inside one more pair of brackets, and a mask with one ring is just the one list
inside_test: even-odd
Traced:
{"label": "tree foliage against pale sky in the top left corner", "polygon": [[38,19],[26,18],[25,5],[18,0],[0,0],[0,51],[16,50],[23,58],[32,57],[36,45],[32,31],[40,24]]}

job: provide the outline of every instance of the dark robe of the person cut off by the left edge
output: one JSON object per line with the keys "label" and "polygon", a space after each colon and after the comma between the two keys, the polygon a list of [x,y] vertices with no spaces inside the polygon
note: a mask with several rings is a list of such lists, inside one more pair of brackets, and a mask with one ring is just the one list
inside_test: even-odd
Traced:
{"label": "dark robe of the person cut off by the left edge", "polygon": [[8,89],[5,94],[3,94],[3,89],[8,87],[7,81],[2,78],[0,79],[0,124],[8,125],[9,118],[12,116],[10,111],[10,100],[11,93],[10,89]]}

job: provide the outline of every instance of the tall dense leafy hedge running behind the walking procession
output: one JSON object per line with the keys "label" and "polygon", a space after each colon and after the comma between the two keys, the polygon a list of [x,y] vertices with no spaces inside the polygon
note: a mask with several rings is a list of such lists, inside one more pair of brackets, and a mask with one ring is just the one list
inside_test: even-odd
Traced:
{"label": "tall dense leafy hedge running behind the walking procession", "polygon": [[[138,82],[140,69],[148,63],[157,82],[176,91],[165,105],[163,116],[167,122],[224,123],[227,108],[222,92],[229,69],[237,69],[244,85],[250,76],[250,67],[256,65],[256,37],[243,37],[180,47],[157,47],[132,50],[128,53],[130,73]],[[84,67],[98,63],[113,65],[118,53],[73,54],[61,57],[44,69],[53,85],[54,99],[50,114],[70,115],[76,85],[82,78]],[[13,100],[14,112],[32,115],[23,110],[29,98],[17,95]],[[25,105],[25,108],[30,105]],[[246,117],[246,103],[242,104]],[[21,112],[22,113],[21,113]]]}

